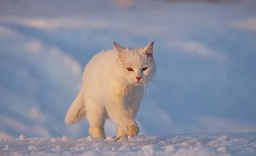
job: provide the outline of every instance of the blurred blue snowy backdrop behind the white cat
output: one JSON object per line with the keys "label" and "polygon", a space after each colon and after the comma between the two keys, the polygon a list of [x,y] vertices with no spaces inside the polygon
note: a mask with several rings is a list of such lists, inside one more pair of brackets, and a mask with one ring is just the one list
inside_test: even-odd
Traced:
{"label": "blurred blue snowy backdrop behind the white cat", "polygon": [[67,126],[64,116],[88,60],[112,41],[152,40],[141,135],[256,131],[254,1],[17,2],[1,1],[0,137],[87,136],[86,119]]}

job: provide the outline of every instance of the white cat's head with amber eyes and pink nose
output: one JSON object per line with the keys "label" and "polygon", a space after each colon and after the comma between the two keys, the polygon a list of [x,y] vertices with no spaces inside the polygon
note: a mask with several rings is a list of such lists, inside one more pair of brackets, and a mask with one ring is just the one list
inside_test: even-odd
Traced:
{"label": "white cat's head with amber eyes and pink nose", "polygon": [[[113,42],[122,64],[120,72],[128,84],[141,86],[151,81],[155,75],[155,60],[153,57],[154,41],[141,48],[122,47]],[[120,73],[121,74],[121,73]]]}

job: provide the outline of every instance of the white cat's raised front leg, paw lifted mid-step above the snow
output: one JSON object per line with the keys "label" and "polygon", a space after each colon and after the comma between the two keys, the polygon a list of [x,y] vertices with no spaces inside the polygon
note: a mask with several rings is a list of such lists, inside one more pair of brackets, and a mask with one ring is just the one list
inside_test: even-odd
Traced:
{"label": "white cat's raised front leg, paw lifted mid-step above the snow", "polygon": [[120,136],[123,136],[121,128],[125,131],[127,136],[137,136],[139,132],[138,125],[130,114],[126,111],[122,99],[112,100],[106,105],[106,111],[113,121],[120,126]]}

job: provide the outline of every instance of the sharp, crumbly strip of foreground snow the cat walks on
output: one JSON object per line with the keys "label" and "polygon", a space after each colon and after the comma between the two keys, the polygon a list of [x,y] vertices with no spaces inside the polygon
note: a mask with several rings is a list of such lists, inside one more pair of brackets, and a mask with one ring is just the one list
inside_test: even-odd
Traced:
{"label": "sharp, crumbly strip of foreground snow the cat walks on", "polygon": [[63,136],[52,139],[1,139],[0,154],[246,156],[256,154],[255,142],[255,133],[137,136],[117,142],[112,136],[107,136],[106,139]]}

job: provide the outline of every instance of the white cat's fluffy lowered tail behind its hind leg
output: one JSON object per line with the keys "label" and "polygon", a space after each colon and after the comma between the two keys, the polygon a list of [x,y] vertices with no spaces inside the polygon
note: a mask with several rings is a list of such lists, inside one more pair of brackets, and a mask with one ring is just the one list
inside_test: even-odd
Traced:
{"label": "white cat's fluffy lowered tail behind its hind leg", "polygon": [[73,103],[67,110],[65,116],[65,123],[67,125],[74,124],[80,121],[86,115],[86,106],[84,104],[84,96],[83,90],[81,89],[79,94],[77,95],[76,99],[74,99]]}

